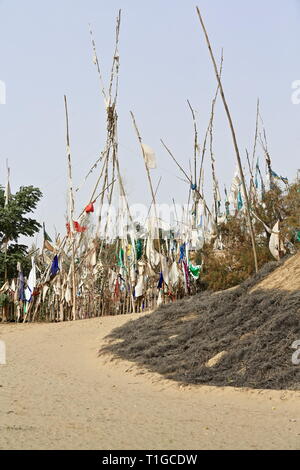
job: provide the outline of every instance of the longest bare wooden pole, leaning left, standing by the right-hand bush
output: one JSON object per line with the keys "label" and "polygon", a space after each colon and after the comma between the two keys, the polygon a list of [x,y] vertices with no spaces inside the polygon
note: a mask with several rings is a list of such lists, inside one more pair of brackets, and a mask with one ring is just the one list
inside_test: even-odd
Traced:
{"label": "longest bare wooden pole, leaning left, standing by the right-hand bush", "polygon": [[243,167],[242,167],[242,162],[241,162],[241,157],[240,157],[240,151],[239,151],[239,147],[238,147],[238,143],[237,143],[237,138],[236,138],[236,135],[235,135],[235,130],[234,130],[231,114],[230,114],[229,107],[228,107],[228,104],[227,104],[227,101],[226,101],[226,98],[225,98],[221,77],[220,77],[220,74],[218,72],[217,63],[216,63],[214,53],[213,53],[212,48],[211,48],[208,33],[206,31],[206,28],[205,28],[205,25],[204,25],[204,22],[203,22],[203,19],[202,19],[199,8],[196,7],[196,10],[197,10],[197,14],[198,14],[198,17],[199,17],[199,20],[200,20],[205,38],[206,38],[207,47],[208,47],[210,57],[211,57],[211,60],[212,60],[213,66],[214,66],[216,78],[217,78],[217,81],[218,81],[218,84],[219,84],[219,87],[220,87],[221,97],[222,97],[222,100],[223,100],[225,112],[226,112],[226,115],[227,115],[227,118],[228,118],[230,130],[231,130],[231,134],[232,134],[233,145],[234,145],[236,158],[237,158],[237,163],[238,163],[240,176],[241,176],[241,180],[242,180],[242,187],[243,187],[243,191],[244,191],[244,197],[245,197],[245,200],[246,200],[247,218],[248,218],[250,235],[251,235],[255,271],[258,272],[257,252],[256,252],[254,229],[253,229],[252,218],[251,218],[251,209],[250,209],[249,197],[248,197],[248,193],[247,193],[247,188],[246,188],[245,177],[244,177],[244,172],[243,172]]}

